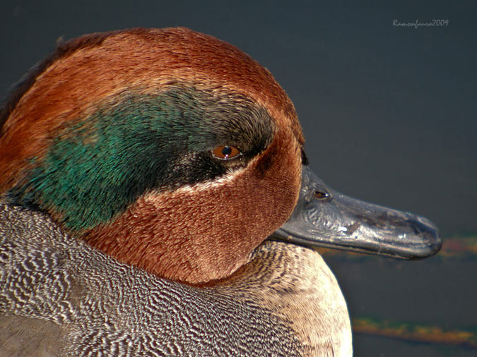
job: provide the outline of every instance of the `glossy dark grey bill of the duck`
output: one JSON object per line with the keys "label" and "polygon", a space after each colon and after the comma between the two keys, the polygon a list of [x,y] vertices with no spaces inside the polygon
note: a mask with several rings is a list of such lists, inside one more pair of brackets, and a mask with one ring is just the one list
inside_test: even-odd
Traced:
{"label": "glossy dark grey bill of the duck", "polygon": [[331,190],[309,167],[295,210],[270,237],[394,258],[425,258],[440,250],[437,227],[416,214],[356,200]]}

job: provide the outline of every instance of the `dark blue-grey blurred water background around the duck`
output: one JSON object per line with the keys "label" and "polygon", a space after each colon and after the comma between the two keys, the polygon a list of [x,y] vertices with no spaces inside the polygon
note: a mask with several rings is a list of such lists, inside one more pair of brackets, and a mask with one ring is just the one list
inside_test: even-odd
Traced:
{"label": "dark blue-grey blurred water background around the duck", "polygon": [[[0,9],[1,97],[60,37],[88,32],[186,26],[250,54],[295,103],[310,163],[326,183],[424,215],[442,231],[443,253],[428,260],[326,257],[355,319],[355,356],[476,356],[476,2],[14,1]],[[393,25],[433,19],[447,25]],[[391,332],[377,337],[373,323]],[[439,337],[458,332],[464,342]]]}

